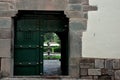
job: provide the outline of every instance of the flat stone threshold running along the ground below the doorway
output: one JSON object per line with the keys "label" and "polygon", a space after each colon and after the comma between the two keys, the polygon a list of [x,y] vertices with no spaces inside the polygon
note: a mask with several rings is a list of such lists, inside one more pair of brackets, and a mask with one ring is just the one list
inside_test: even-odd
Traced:
{"label": "flat stone threshold running along the ground below the doorway", "polygon": [[93,80],[93,79],[80,79],[70,76],[13,76],[1,78],[0,80]]}

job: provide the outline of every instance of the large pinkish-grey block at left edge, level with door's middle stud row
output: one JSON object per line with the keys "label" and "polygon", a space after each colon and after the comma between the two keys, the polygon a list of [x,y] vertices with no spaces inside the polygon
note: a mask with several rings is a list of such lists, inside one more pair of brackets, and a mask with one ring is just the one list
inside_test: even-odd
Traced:
{"label": "large pinkish-grey block at left edge, level with door's middle stud row", "polygon": [[0,57],[10,57],[10,39],[0,39]]}

